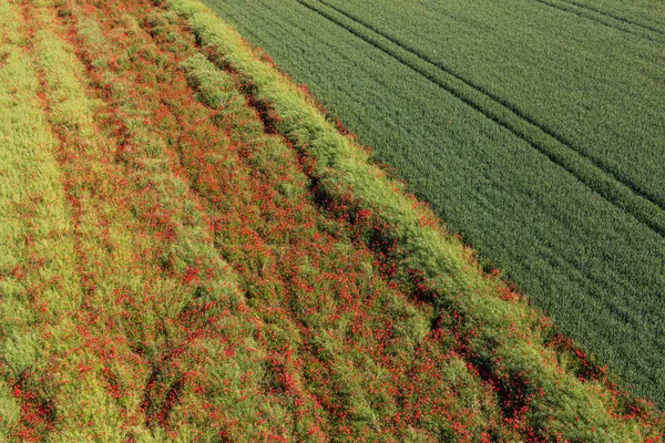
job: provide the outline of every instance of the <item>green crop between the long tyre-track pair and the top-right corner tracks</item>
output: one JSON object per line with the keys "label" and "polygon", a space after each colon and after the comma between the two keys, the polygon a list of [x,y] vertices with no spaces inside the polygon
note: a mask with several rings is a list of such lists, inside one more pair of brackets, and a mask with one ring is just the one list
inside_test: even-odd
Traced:
{"label": "green crop between the long tyre-track pair and the top-right corner tracks", "polygon": [[[313,3],[309,1],[309,3]],[[657,145],[659,135],[655,127],[658,124],[657,113],[663,106],[662,94],[654,89],[659,78],[662,60],[658,58],[663,44],[659,41],[645,41],[634,35],[621,34],[613,30],[596,25],[584,19],[570,17],[557,11],[549,13],[543,7],[531,1],[513,1],[507,3],[498,13],[508,14],[520,7],[531,7],[536,18],[538,31],[531,34],[531,41],[509,40],[512,49],[500,45],[497,55],[489,60],[462,60],[469,51],[487,53],[492,47],[490,39],[510,39],[507,34],[525,34],[528,25],[522,18],[511,19],[505,30],[479,31],[467,47],[461,43],[464,24],[450,23],[452,29],[431,22],[426,16],[408,14],[408,7],[402,3],[340,2],[337,0],[316,1],[336,8],[338,12],[360,21],[390,38],[393,42],[410,49],[412,52],[431,60],[433,64],[446,66],[460,76],[487,91],[526,119],[530,123],[563,142],[570,148],[590,158],[605,173],[647,196],[661,207],[665,206],[658,181],[663,173],[652,165],[658,162]],[[531,4],[529,4],[531,3]],[[574,8],[579,6],[572,4]],[[458,17],[452,6],[430,12],[433,17],[446,14]],[[489,17],[491,9],[479,8],[472,17],[483,23],[495,24]],[[399,29],[391,27],[395,17],[407,17]],[[546,22],[552,20],[556,27],[566,32],[575,32],[576,40],[562,37],[556,27]],[[615,19],[617,20],[617,19]],[[596,32],[611,39],[616,45],[613,50],[603,50],[589,32]],[[446,41],[444,51],[438,42]],[[449,49],[453,47],[456,49]],[[459,49],[458,49],[459,48]],[[562,54],[564,50],[567,58]],[[592,59],[584,58],[585,51],[596,51]],[[509,60],[515,71],[500,72],[502,62],[499,55]],[[523,62],[520,65],[520,60]],[[635,69],[632,63],[641,63]],[[603,70],[603,72],[598,72]],[[646,102],[641,103],[638,96]],[[626,115],[634,112],[637,115]],[[610,134],[600,131],[600,126],[611,123],[615,125]],[[626,153],[630,147],[630,154]],[[646,173],[648,171],[648,173]]]}

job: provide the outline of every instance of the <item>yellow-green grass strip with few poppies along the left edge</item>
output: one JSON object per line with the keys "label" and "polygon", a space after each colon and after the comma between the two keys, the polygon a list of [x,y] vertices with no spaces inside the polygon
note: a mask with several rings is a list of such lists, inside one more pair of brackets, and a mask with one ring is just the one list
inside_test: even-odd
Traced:
{"label": "yellow-green grass strip with few poppies along the left edge", "polygon": [[[6,54],[0,66],[0,434],[10,439],[33,431],[34,424],[21,419],[20,392],[50,402],[51,388],[66,391],[74,381],[44,371],[60,363],[53,356],[78,344],[70,316],[82,292],[55,159],[58,141],[38,99],[40,84],[19,3],[0,3],[0,52]],[[78,362],[85,359],[70,361]]]}

